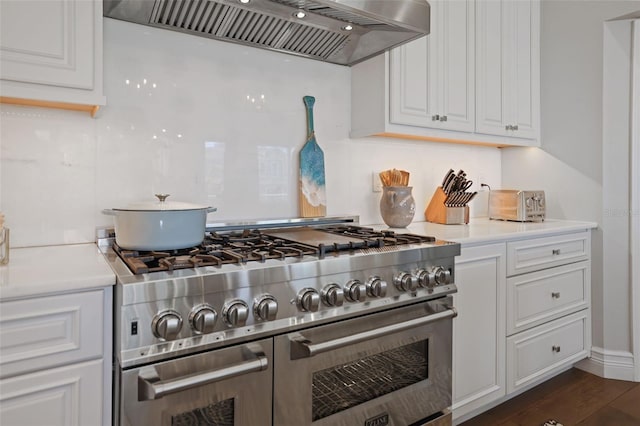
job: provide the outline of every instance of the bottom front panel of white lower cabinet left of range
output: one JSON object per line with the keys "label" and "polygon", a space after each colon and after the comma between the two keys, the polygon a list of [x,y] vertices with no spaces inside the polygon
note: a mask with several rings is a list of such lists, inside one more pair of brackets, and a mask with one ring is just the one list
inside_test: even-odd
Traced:
{"label": "bottom front panel of white lower cabinet left of range", "polygon": [[102,424],[102,360],[0,380],[0,424]]}

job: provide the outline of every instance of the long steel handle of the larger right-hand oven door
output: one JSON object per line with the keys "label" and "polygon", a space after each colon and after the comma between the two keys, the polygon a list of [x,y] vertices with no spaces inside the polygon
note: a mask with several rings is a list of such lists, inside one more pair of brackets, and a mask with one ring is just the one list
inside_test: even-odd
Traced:
{"label": "long steel handle of the larger right-hand oven door", "polygon": [[367,340],[386,336],[400,331],[409,330],[411,328],[430,324],[447,318],[455,318],[458,311],[454,307],[449,307],[446,311],[438,312],[426,317],[415,318],[398,324],[391,324],[380,327],[375,330],[368,330],[362,333],[351,334],[349,336],[340,337],[338,339],[329,340],[327,342],[313,343],[302,334],[297,334],[291,339],[291,360],[300,358],[310,358],[312,356],[343,348],[345,346],[361,343]]}

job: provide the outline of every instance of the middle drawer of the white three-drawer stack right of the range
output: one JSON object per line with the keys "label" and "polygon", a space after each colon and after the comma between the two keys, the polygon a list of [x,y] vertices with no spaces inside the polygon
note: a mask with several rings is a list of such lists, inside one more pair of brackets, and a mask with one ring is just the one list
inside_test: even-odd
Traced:
{"label": "middle drawer of the white three-drawer stack right of the range", "polygon": [[507,335],[588,307],[590,282],[588,261],[508,278]]}

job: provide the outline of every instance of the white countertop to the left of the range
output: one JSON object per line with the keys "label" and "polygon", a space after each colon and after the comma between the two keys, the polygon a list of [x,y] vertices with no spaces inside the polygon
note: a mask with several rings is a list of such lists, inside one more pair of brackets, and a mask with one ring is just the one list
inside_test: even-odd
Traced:
{"label": "white countertop to the left of the range", "polygon": [[12,248],[0,266],[0,301],[108,287],[116,277],[95,244]]}

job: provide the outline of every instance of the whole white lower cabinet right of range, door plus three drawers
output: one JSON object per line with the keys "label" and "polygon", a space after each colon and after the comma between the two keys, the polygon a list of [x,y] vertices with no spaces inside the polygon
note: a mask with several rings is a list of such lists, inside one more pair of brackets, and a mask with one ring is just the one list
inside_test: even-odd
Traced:
{"label": "whole white lower cabinet right of range, door plus three drawers", "polygon": [[455,424],[589,356],[590,247],[589,231],[462,246],[455,270]]}

